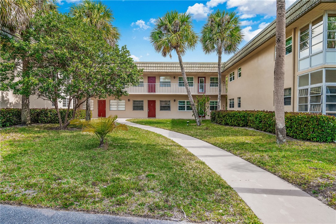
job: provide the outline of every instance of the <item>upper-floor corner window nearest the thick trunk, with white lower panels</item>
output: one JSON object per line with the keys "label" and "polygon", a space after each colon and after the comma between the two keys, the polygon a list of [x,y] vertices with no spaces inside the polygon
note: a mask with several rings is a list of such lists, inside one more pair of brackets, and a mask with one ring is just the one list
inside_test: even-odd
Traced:
{"label": "upper-floor corner window nearest the thick trunk, with white lower panels", "polygon": [[299,70],[323,63],[323,15],[300,29]]}

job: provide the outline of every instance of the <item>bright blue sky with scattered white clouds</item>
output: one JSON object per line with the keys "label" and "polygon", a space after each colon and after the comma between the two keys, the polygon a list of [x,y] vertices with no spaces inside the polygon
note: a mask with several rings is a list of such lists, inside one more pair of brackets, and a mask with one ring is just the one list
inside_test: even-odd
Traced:
{"label": "bright blue sky with scattered white clouds", "polygon": [[[78,4],[79,0],[59,0],[60,12],[69,12],[72,4]],[[148,40],[149,34],[154,27],[154,20],[171,10],[188,12],[193,16],[194,30],[200,33],[206,16],[217,10],[235,11],[241,18],[245,39],[241,44],[244,46],[263,28],[265,28],[276,15],[275,0],[209,0],[209,1],[102,1],[114,12],[113,25],[121,31],[121,39],[118,44],[127,45],[134,61],[178,61],[176,53],[172,58],[162,57],[154,51]],[[286,8],[294,0],[286,0]],[[226,61],[231,55],[222,55],[222,61]],[[217,62],[216,54],[206,55],[200,44],[193,51],[188,51],[183,61]]]}

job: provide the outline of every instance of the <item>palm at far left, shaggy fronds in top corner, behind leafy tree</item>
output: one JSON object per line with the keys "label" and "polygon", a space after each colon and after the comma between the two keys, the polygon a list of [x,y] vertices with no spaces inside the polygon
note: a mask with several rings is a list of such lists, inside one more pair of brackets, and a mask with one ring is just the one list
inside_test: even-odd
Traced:
{"label": "palm at far left, shaggy fronds in top corner, behind leafy tree", "polygon": [[[21,34],[26,30],[29,20],[34,17],[37,11],[43,13],[54,10],[57,10],[55,0],[0,0],[1,27],[6,27],[11,33]],[[27,69],[27,60],[25,57],[22,60],[23,73],[25,73]],[[21,108],[21,124],[31,124],[29,95],[22,94]]]}

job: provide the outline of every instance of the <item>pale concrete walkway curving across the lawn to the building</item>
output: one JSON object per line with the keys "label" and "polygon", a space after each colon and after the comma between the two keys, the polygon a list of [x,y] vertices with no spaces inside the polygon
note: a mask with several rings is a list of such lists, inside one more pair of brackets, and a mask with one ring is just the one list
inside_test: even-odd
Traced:
{"label": "pale concrete walkway curving across the lawn to the building", "polygon": [[336,223],[336,211],[283,179],[197,138],[127,122],[185,147],[235,189],[263,223]]}

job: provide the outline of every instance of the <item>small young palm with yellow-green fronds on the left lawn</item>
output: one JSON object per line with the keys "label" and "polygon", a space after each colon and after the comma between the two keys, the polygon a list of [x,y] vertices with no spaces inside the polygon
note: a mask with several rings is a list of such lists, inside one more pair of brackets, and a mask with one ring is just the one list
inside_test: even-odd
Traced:
{"label": "small young palm with yellow-green fronds on the left lawn", "polygon": [[89,121],[81,121],[79,119],[74,119],[70,121],[70,124],[78,125],[82,127],[82,132],[94,133],[99,138],[99,148],[104,147],[104,139],[107,134],[119,130],[128,131],[125,124],[117,125],[118,116],[112,117],[110,115],[107,118],[99,118]]}

